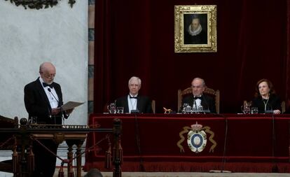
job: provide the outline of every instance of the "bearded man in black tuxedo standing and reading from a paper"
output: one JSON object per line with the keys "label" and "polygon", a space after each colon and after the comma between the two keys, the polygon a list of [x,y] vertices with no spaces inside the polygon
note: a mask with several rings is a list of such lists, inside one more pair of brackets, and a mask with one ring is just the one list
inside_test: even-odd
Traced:
{"label": "bearded man in black tuxedo standing and reading from a paper", "polygon": [[[62,125],[62,117],[68,118],[69,113],[62,111],[62,90],[59,84],[54,83],[55,66],[44,62],[39,67],[40,77],[25,85],[25,108],[29,120],[39,124]],[[57,154],[58,144],[53,140],[41,140],[46,148]],[[34,141],[33,152],[35,157],[35,171],[33,176],[53,177],[56,157]]]}

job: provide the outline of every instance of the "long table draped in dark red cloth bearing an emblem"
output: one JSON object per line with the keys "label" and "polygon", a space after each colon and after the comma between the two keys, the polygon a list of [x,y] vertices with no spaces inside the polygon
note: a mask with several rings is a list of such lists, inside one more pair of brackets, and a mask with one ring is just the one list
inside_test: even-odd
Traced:
{"label": "long table draped in dark red cloth bearing an emblem", "polygon": [[[239,114],[92,114],[89,125],[106,128],[123,122],[123,171],[290,172],[290,115]],[[200,124],[207,145],[188,148],[191,125]],[[87,146],[104,136],[88,134]],[[183,138],[184,137],[184,140]],[[85,169],[104,169],[106,144],[86,154]]]}

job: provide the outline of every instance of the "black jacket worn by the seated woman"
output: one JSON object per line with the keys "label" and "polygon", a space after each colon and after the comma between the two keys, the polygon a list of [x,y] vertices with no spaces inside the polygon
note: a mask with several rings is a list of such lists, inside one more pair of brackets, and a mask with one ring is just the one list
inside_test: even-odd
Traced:
{"label": "black jacket worn by the seated woman", "polygon": [[257,107],[258,113],[265,113],[265,106],[266,106],[266,110],[269,110],[269,111],[274,111],[277,109],[279,109],[279,111],[282,111],[281,99],[277,96],[277,94],[270,94],[268,102],[266,100],[264,101],[261,96],[256,97],[253,99],[251,107]]}

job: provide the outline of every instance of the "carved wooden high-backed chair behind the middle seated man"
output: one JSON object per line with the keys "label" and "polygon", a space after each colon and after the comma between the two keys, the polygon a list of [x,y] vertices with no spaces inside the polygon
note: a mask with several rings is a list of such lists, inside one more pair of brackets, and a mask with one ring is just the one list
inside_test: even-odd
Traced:
{"label": "carved wooden high-backed chair behind the middle seated man", "polygon": [[[182,98],[188,94],[192,94],[193,90],[191,87],[186,88],[185,90],[178,90],[177,91],[177,110],[180,111]],[[209,96],[214,98],[215,104],[216,104],[216,113],[219,114],[219,90],[213,90],[209,87],[205,87],[204,94],[208,94]]]}

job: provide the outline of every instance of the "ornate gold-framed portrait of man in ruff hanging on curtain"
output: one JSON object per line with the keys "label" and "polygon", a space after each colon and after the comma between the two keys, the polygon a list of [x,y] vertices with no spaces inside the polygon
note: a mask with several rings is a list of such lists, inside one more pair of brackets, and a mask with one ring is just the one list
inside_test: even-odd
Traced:
{"label": "ornate gold-framed portrait of man in ruff hanging on curtain", "polygon": [[174,52],[216,51],[216,5],[174,6]]}

